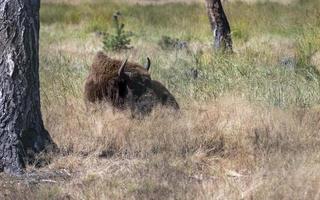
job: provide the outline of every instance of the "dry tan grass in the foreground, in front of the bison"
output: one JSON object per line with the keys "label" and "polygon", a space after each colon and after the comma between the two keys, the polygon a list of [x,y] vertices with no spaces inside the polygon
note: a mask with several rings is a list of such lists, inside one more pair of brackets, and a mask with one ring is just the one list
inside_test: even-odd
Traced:
{"label": "dry tan grass in the foreground, in front of the bison", "polygon": [[44,119],[62,152],[41,171],[69,175],[22,184],[20,192],[35,195],[26,199],[319,198],[316,108],[283,111],[226,96],[133,120],[71,97],[51,103]]}

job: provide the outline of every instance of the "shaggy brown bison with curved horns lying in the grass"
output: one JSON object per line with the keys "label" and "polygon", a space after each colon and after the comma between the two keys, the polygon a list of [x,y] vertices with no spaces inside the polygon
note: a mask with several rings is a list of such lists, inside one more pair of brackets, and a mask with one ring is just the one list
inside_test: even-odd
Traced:
{"label": "shaggy brown bison with curved horns lying in the grass", "polygon": [[179,109],[173,95],[149,74],[150,59],[143,67],[98,52],[85,82],[85,99],[107,101],[119,109],[130,108],[133,115],[147,114],[156,105]]}

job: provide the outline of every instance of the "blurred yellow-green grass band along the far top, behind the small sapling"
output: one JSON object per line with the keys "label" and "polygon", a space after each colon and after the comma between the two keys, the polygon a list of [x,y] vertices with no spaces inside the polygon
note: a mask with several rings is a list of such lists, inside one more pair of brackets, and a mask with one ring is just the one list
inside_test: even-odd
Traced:
{"label": "blurred yellow-green grass band along the far top, behind the small sapling", "polygon": [[[127,5],[112,1],[73,6],[45,3],[41,9],[43,24],[85,24],[86,31],[108,30],[111,16],[121,11],[127,25],[137,34],[170,34],[192,39],[208,39],[209,27],[204,5],[165,4]],[[239,32],[248,37],[261,32],[281,35],[301,34],[310,25],[319,25],[320,5],[316,1],[301,1],[285,6],[276,3],[226,4],[226,13],[236,35]],[[245,37],[245,38],[246,38]],[[236,36],[237,38],[237,36]],[[240,37],[242,38],[242,37]]]}

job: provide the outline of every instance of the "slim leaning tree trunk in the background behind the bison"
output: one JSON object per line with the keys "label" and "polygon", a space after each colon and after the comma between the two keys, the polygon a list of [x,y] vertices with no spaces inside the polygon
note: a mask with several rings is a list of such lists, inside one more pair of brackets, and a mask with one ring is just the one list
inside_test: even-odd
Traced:
{"label": "slim leaning tree trunk in the background behind the bison", "polygon": [[232,52],[231,30],[220,0],[206,0],[215,49]]}

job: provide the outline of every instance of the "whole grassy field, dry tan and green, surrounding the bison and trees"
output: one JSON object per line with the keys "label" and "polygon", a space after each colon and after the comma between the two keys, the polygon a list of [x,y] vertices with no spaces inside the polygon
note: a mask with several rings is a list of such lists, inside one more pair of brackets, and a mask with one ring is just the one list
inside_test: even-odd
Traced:
{"label": "whole grassy field, dry tan and green, surrounding the bison and trees", "polygon": [[[225,2],[232,55],[213,52],[201,1],[137,2],[43,1],[42,112],[61,153],[28,166],[34,176],[1,177],[0,199],[320,199],[319,1]],[[180,112],[133,120],[85,107],[115,11],[134,48],[108,54],[149,56]],[[163,50],[163,36],[188,48]]]}

